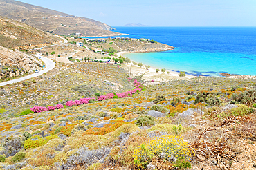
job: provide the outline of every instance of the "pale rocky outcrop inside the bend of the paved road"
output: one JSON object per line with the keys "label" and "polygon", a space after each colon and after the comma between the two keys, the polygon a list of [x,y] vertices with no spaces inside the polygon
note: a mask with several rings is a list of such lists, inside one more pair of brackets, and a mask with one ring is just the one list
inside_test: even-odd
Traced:
{"label": "pale rocky outcrop inside the bend of the paved road", "polygon": [[8,50],[0,46],[1,79],[33,73],[40,67],[42,67],[42,62],[36,57],[21,53],[19,50]]}

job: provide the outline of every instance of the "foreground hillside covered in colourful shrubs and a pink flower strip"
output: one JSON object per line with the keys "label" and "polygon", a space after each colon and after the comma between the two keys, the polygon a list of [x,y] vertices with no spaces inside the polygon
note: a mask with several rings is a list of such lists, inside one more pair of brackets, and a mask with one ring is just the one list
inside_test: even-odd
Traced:
{"label": "foreground hillside covered in colourful shrubs and a pink flower strip", "polygon": [[140,78],[75,62],[2,87],[0,168],[253,169],[255,79]]}

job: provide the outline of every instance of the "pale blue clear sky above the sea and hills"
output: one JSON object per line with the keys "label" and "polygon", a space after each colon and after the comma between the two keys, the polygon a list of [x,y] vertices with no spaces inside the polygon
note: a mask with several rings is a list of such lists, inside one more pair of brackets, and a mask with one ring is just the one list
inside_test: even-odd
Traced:
{"label": "pale blue clear sky above the sea and hills", "polygon": [[19,0],[110,26],[256,26],[256,0]]}

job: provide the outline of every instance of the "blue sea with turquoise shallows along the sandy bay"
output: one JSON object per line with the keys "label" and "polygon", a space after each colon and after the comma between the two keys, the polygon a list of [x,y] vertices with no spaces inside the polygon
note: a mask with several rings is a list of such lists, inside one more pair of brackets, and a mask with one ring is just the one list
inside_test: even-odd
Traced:
{"label": "blue sea with turquoise shallows along the sandy bay", "polygon": [[130,34],[121,37],[154,39],[175,47],[172,51],[125,54],[136,62],[192,75],[256,75],[256,27],[115,28]]}

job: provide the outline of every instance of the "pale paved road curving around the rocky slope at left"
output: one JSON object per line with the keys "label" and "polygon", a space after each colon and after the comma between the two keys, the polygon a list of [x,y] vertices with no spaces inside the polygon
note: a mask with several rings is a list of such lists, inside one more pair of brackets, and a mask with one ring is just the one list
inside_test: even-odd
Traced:
{"label": "pale paved road curving around the rocky slope at left", "polygon": [[7,84],[17,83],[17,82],[24,81],[26,79],[37,77],[39,75],[42,75],[42,74],[48,72],[49,70],[52,70],[55,67],[55,62],[51,61],[51,59],[48,59],[48,58],[43,57],[41,55],[34,55],[34,56],[38,57],[38,58],[41,57],[42,61],[44,61],[44,63],[46,64],[46,68],[44,68],[44,70],[41,70],[39,73],[34,73],[32,75],[27,75],[25,77],[21,77],[19,79],[12,79],[8,82],[2,82],[2,83],[0,83],[0,86],[5,86]]}

